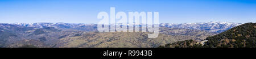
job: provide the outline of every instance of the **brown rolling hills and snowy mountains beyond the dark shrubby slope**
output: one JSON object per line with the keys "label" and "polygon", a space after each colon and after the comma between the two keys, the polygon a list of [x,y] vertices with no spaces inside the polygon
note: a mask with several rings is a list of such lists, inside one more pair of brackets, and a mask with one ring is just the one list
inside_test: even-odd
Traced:
{"label": "brown rolling hills and snowy mountains beyond the dark shrubby slope", "polygon": [[204,41],[240,24],[161,23],[159,36],[149,39],[148,32],[98,32],[97,24],[0,23],[0,47],[159,47],[191,39]]}

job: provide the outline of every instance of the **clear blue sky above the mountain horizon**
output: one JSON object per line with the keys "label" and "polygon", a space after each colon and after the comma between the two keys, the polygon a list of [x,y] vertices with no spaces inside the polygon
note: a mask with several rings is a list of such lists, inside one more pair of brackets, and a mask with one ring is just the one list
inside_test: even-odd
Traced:
{"label": "clear blue sky above the mountain horizon", "polygon": [[158,11],[160,23],[256,22],[255,0],[1,0],[0,23],[98,23],[98,12],[110,7]]}

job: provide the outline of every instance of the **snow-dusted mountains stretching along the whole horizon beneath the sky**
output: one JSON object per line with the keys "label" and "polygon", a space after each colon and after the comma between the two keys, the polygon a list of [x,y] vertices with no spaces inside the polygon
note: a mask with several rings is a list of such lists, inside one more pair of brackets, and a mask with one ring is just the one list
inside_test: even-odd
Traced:
{"label": "snow-dusted mountains stretching along the whole horizon beneath the sky", "polygon": [[[43,28],[43,27],[55,27],[60,29],[97,29],[97,24],[84,24],[84,23],[13,23],[19,26],[26,26],[26,27],[36,27],[36,28]],[[122,23],[115,24],[116,26],[121,25]],[[129,23],[125,23],[128,26]],[[138,25],[138,24],[135,24]],[[142,24],[145,25],[145,24]],[[160,23],[160,27],[169,27],[169,28],[185,28],[185,29],[199,29],[208,32],[215,32],[220,33],[230,29],[232,27],[240,26],[241,23],[232,23],[232,22],[204,22],[204,23]]]}

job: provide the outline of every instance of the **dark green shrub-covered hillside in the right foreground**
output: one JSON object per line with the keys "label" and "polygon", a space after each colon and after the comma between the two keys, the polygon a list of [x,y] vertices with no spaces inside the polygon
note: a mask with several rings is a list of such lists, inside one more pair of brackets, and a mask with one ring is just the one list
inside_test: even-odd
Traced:
{"label": "dark green shrub-covered hillside in the right foreground", "polygon": [[245,23],[218,35],[209,36],[205,41],[185,40],[167,44],[167,48],[255,48],[256,23]]}

